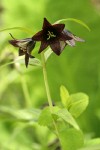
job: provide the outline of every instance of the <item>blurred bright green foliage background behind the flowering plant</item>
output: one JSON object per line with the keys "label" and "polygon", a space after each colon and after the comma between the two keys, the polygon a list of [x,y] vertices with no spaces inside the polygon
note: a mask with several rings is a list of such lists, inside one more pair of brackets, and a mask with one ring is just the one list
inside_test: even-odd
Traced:
{"label": "blurred bright green foliage background behind the flowering plant", "polygon": [[[100,1],[99,0],[0,0],[0,29],[27,27],[33,34],[41,30],[43,18],[51,23],[64,18],[84,21],[90,28],[66,22],[66,28],[86,40],[76,47],[67,46],[60,57],[52,54],[47,62],[48,80],[52,99],[59,103],[59,88],[63,84],[70,93],[85,92],[90,103],[77,120],[87,137],[100,136]],[[16,38],[32,35],[20,30],[0,33],[0,64],[4,65],[17,56],[17,49],[8,44],[9,32]],[[39,44],[33,55],[37,58]],[[21,72],[21,73],[19,73]],[[27,91],[27,92],[26,92]],[[2,117],[1,108],[41,108],[47,102],[41,69],[9,65],[0,67],[0,150],[38,149],[33,143],[46,139],[41,127],[15,123]],[[49,132],[49,131],[48,131]],[[49,134],[49,133],[48,133]],[[37,136],[38,135],[38,139]],[[33,142],[34,141],[34,142]],[[9,144],[10,143],[10,144]],[[41,148],[40,148],[41,149]],[[44,149],[43,149],[44,150]]]}

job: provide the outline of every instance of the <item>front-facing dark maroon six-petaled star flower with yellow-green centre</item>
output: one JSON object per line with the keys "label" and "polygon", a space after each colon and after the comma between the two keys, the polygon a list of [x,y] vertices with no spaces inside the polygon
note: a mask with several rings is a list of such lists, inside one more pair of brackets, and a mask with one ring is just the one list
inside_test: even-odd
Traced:
{"label": "front-facing dark maroon six-petaled star flower with yellow-green centre", "polygon": [[64,28],[65,24],[52,25],[44,18],[42,30],[32,37],[35,41],[41,41],[39,53],[50,46],[54,53],[60,55],[62,52],[60,41],[65,42],[72,39],[63,33]]}

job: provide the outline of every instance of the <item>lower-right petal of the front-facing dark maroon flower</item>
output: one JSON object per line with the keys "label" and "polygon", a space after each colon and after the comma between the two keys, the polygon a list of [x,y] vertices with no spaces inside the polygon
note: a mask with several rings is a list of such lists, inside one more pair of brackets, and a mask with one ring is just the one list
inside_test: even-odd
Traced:
{"label": "lower-right petal of the front-facing dark maroon flower", "polygon": [[56,53],[57,55],[60,55],[61,47],[60,47],[60,42],[59,41],[52,42],[50,44],[50,47],[51,47],[51,49],[53,50],[54,53]]}

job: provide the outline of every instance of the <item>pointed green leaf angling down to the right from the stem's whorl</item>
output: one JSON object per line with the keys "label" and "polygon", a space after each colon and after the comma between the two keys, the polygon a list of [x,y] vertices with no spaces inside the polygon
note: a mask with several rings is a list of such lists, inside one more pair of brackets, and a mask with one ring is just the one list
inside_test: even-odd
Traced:
{"label": "pointed green leaf angling down to the right from the stem's whorl", "polygon": [[78,124],[67,109],[58,109],[58,111],[53,109],[53,114],[57,115],[59,118],[62,118],[68,124],[72,125],[75,129],[79,130]]}

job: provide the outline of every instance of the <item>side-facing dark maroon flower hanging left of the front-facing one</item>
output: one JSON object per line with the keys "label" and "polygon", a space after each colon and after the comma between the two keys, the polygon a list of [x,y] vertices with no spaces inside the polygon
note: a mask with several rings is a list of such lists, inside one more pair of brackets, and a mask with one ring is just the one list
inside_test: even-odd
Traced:
{"label": "side-facing dark maroon flower hanging left of the front-facing one", "polygon": [[32,38],[17,40],[12,35],[11,37],[13,40],[9,40],[9,43],[14,47],[19,48],[19,56],[25,55],[25,65],[28,67],[29,58],[35,58],[31,55],[31,52],[34,49],[36,42],[33,41]]}

